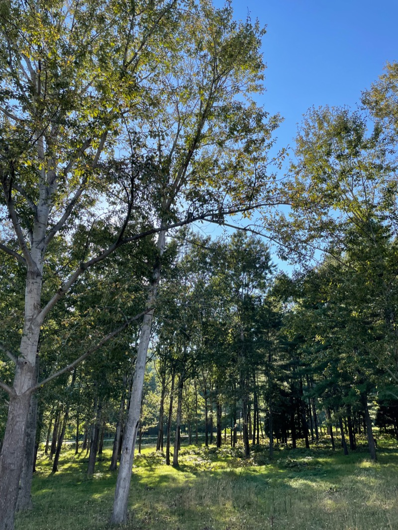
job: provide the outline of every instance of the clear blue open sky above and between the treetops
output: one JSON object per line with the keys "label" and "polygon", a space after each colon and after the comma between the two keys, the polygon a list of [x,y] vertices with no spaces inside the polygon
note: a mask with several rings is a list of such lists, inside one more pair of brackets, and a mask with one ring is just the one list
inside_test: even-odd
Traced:
{"label": "clear blue open sky above and between the treetops", "polygon": [[232,0],[232,6],[236,19],[249,12],[267,25],[267,91],[260,101],[285,119],[279,147],[293,144],[309,107],[353,107],[386,61],[398,60],[398,0]]}

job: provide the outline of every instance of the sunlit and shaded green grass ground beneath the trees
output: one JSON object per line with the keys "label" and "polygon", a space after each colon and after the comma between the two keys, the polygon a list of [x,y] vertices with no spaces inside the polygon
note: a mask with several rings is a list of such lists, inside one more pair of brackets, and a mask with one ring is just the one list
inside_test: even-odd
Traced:
{"label": "sunlit and shaded green grass ground beneath the trees", "polygon": [[[348,456],[328,441],[312,448],[266,446],[246,461],[241,447],[182,446],[178,469],[143,448],[134,460],[126,530],[396,530],[398,447],[379,438],[378,461],[365,444]],[[104,448],[93,479],[88,458],[73,449],[59,471],[40,455],[32,486],[33,510],[18,514],[16,530],[107,530],[116,472]]]}

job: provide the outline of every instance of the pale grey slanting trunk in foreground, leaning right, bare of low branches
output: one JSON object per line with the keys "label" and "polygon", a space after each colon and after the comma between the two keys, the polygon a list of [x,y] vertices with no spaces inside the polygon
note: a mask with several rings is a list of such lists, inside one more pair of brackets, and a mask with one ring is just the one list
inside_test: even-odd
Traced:
{"label": "pale grey slanting trunk in foreground, leaning right, bare of low branches", "polygon": [[133,391],[131,403],[128,410],[128,418],[124,433],[122,458],[120,460],[119,474],[116,482],[115,501],[111,522],[114,524],[124,523],[127,520],[128,493],[130,490],[131,470],[134,460],[135,440],[140,422],[141,396],[144,385],[145,361],[148,353],[149,340],[151,336],[152,317],[154,304],[157,298],[157,289],[160,279],[161,256],[165,250],[166,232],[162,230],[158,236],[158,259],[153,267],[152,283],[149,290],[146,308],[148,313],[143,317],[140,345],[137,350],[135,372],[133,380]]}

